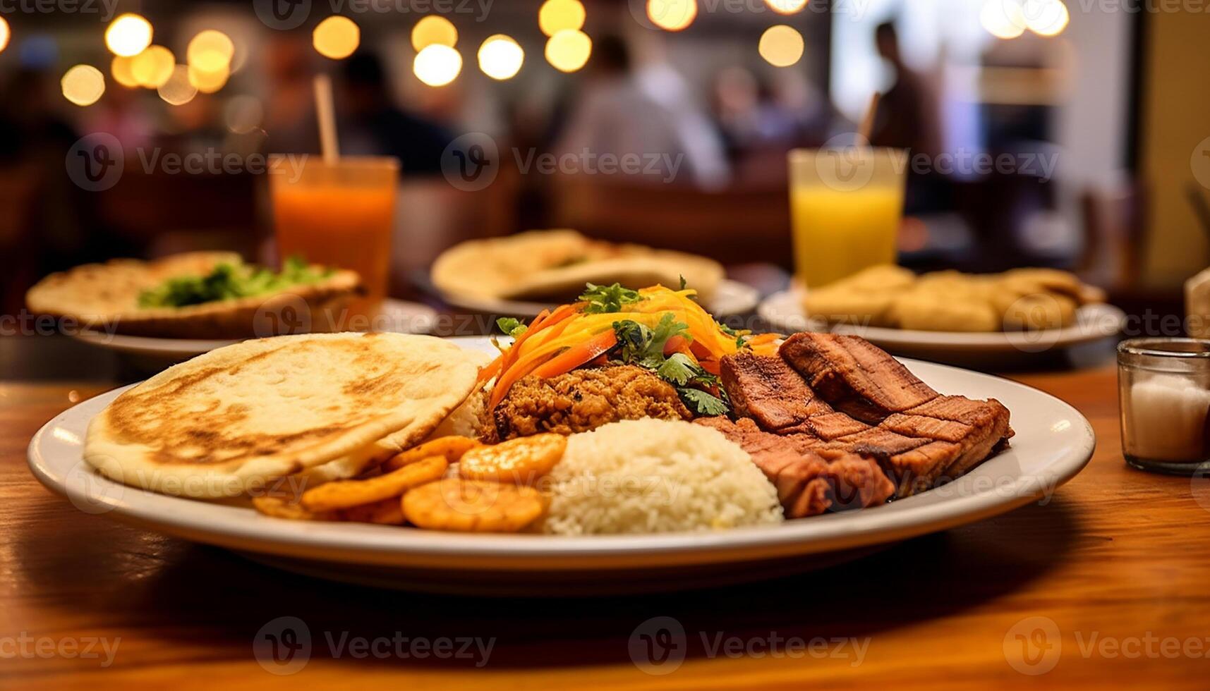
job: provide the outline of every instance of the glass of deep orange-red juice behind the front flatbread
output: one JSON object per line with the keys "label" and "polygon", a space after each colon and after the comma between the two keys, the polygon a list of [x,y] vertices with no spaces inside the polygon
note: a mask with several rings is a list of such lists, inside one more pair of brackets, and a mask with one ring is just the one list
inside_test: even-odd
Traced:
{"label": "glass of deep orange-red juice behind the front flatbread", "polygon": [[373,318],[390,280],[399,161],[376,156],[298,161],[271,157],[269,194],[278,254],[357,271],[367,294],[350,305],[350,316]]}

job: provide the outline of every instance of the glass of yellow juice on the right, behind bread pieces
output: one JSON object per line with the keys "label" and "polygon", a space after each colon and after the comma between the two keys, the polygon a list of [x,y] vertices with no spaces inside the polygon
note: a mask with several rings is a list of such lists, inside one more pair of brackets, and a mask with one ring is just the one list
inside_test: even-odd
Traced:
{"label": "glass of yellow juice on the right, behind bread pieces", "polygon": [[794,267],[808,288],[894,264],[908,180],[903,149],[794,149]]}

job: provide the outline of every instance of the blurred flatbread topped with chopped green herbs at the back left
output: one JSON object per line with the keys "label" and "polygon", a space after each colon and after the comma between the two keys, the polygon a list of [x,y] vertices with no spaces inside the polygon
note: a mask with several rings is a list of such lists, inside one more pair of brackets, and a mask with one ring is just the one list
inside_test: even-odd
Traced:
{"label": "blurred flatbread topped with chopped green herbs at the back left", "polygon": [[114,259],[52,273],[25,294],[29,310],[69,317],[106,333],[180,339],[246,339],[332,332],[361,286],[353,271],[276,293],[184,307],[139,307],[139,294],[179,276],[206,276],[238,264],[234,252],[188,252],[142,261]]}

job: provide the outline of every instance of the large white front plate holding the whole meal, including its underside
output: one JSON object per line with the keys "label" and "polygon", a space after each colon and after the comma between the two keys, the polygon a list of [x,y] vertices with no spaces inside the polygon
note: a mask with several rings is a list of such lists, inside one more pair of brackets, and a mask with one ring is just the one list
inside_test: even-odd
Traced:
{"label": "large white front plate holding the whole meal, including its underside", "polygon": [[[456,339],[491,352],[486,339]],[[328,578],[416,589],[551,594],[680,589],[819,568],[854,553],[1003,513],[1047,496],[1093,455],[1088,421],[1037,390],[951,367],[905,361],[941,393],[995,397],[1012,411],[1012,447],[934,490],[883,506],[718,532],[564,537],[462,535],[269,518],[243,503],[211,503],[110,482],[82,461],[88,421],[125,388],[47,422],[29,466],[86,513],[248,553]],[[1007,536],[1012,537],[1012,536]]]}

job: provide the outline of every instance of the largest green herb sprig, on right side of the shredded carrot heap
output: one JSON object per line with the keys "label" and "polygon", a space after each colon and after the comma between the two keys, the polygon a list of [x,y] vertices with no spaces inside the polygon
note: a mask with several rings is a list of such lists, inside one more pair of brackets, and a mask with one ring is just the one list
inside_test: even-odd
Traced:
{"label": "largest green herb sprig, on right side of the shredded carrot heap", "polygon": [[613,333],[621,345],[617,358],[623,364],[636,364],[653,370],[657,376],[672,384],[685,405],[698,415],[727,413],[726,402],[699,388],[718,386],[718,376],[702,369],[685,353],[674,352],[664,356],[668,339],[681,336],[686,341],[690,340],[688,326],[678,322],[672,312],[664,313],[653,329],[630,319],[613,322]]}

